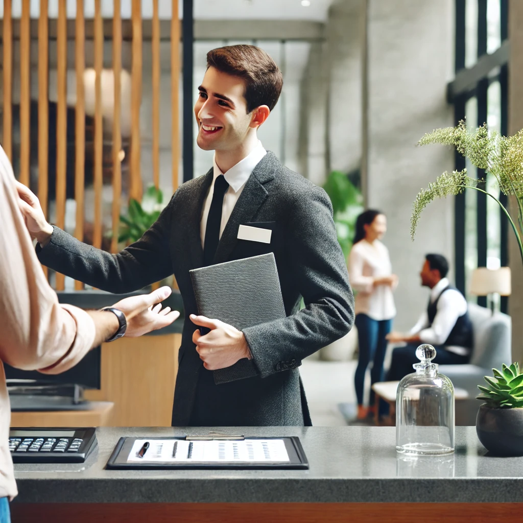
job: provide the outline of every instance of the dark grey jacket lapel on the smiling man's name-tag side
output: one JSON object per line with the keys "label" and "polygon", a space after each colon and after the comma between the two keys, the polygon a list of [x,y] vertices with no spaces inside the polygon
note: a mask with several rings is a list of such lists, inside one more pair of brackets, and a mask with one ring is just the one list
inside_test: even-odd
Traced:
{"label": "dark grey jacket lapel on the smiling man's name-tag side", "polygon": [[274,178],[275,160],[274,154],[268,152],[256,165],[246,181],[242,194],[234,206],[218,243],[213,260],[215,264],[229,261],[229,256],[238,242],[237,235],[240,224],[251,221],[261,204],[269,197],[264,184]]}

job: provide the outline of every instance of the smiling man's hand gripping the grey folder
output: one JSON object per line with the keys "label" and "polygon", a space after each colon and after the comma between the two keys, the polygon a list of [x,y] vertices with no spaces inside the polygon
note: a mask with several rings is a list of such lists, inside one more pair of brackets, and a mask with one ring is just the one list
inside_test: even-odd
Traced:
{"label": "smiling man's hand gripping the grey folder", "polygon": [[224,369],[234,365],[242,358],[252,359],[251,351],[242,331],[219,320],[209,320],[205,316],[190,315],[192,323],[211,329],[202,336],[197,329],[192,335],[192,342],[203,360],[207,370]]}

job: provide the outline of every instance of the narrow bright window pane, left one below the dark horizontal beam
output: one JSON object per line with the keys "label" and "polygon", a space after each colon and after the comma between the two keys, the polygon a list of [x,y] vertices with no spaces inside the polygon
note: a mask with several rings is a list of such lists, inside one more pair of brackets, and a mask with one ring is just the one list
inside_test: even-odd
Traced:
{"label": "narrow bright window pane, left one below the dark horizontal beam", "polygon": [[[474,96],[465,105],[467,127],[475,129],[477,122],[477,98]],[[477,169],[469,160],[465,161],[467,173],[471,178],[477,177]],[[477,191],[465,190],[465,290],[469,301],[475,301],[475,296],[469,293],[469,282],[472,271],[477,267]]]}

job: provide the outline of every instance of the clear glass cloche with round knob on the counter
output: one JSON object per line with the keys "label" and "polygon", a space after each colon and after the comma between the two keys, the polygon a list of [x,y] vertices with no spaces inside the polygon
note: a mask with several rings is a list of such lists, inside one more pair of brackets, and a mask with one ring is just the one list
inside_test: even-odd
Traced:
{"label": "clear glass cloche with round knob on the counter", "polygon": [[396,395],[396,450],[412,456],[454,452],[454,387],[438,372],[436,349],[420,345],[416,372],[407,374]]}

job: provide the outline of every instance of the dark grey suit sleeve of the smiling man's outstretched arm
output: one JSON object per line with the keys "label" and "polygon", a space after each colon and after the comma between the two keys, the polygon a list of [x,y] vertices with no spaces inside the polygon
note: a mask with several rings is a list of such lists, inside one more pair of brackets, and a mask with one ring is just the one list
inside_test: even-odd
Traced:
{"label": "dark grey suit sleeve of the smiling man's outstretched arm", "polygon": [[118,254],[79,242],[58,227],[51,241],[37,244],[40,263],[98,289],[123,294],[173,274],[169,236],[174,196],[138,242]]}

